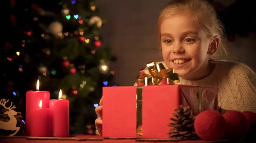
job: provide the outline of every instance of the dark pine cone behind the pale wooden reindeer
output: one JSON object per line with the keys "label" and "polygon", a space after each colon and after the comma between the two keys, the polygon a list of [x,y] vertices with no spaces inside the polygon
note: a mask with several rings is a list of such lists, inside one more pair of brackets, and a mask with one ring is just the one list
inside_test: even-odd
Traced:
{"label": "dark pine cone behind the pale wooden reindeer", "polygon": [[[5,121],[8,122],[10,120],[9,116],[6,114],[3,114],[4,112],[8,111],[7,109],[3,108],[1,109],[0,106],[0,121]],[[17,127],[20,127],[20,130],[17,132],[17,134],[15,134],[15,136],[25,136],[26,135],[26,127],[25,127],[25,123],[22,121],[22,115],[21,112],[17,112],[17,115],[14,116],[17,119]],[[6,136],[6,135],[10,135],[12,134],[12,131],[6,131],[6,130],[1,130],[0,132],[0,136]]]}

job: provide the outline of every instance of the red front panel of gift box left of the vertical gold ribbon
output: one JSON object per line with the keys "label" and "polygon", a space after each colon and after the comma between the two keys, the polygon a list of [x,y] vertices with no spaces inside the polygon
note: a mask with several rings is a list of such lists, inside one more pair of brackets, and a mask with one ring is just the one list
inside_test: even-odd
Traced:
{"label": "red front panel of gift box left of the vertical gold ribbon", "polygon": [[102,137],[136,137],[136,88],[103,87]]}

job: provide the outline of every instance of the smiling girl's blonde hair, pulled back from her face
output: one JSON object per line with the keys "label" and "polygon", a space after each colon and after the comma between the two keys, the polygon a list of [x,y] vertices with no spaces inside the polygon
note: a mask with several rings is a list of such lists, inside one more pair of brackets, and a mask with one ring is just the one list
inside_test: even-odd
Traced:
{"label": "smiling girl's blonde hair, pulled back from her face", "polygon": [[224,28],[221,21],[218,20],[217,14],[213,6],[206,0],[172,0],[160,13],[157,22],[157,44],[161,50],[161,35],[160,26],[166,18],[169,18],[180,12],[190,11],[192,22],[202,28],[207,34],[208,38],[218,36],[220,38],[220,44],[215,56],[211,56],[211,59],[216,59],[217,56],[227,56],[226,38],[224,37]]}

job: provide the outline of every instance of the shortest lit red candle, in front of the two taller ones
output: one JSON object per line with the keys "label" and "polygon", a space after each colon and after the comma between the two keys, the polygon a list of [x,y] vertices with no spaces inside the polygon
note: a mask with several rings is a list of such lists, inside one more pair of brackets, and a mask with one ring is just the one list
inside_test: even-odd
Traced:
{"label": "shortest lit red candle, in front of the two taller ones", "polygon": [[50,137],[50,109],[42,108],[42,100],[39,109],[31,111],[31,132],[32,137]]}

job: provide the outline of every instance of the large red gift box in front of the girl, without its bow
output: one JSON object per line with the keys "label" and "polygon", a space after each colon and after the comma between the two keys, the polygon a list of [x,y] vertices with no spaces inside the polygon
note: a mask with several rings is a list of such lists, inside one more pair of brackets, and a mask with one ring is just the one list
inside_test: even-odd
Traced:
{"label": "large red gift box in front of the girl, without its bow", "polygon": [[[218,109],[218,88],[189,85],[144,86],[142,132],[144,138],[169,138],[172,113],[179,105],[190,106],[194,115],[199,109]],[[137,87],[103,87],[103,137],[136,137]],[[200,107],[202,105],[202,107]]]}

